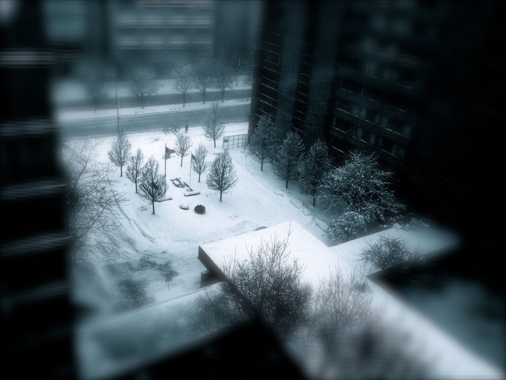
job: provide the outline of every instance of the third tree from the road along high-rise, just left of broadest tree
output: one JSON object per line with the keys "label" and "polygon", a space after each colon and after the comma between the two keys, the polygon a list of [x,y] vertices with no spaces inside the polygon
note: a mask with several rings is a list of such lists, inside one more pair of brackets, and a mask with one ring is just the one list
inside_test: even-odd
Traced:
{"label": "third tree from the road along high-rise, just left of broadest tree", "polygon": [[316,205],[316,195],[330,168],[327,145],[318,139],[309,149],[306,159],[301,165],[299,177],[299,188],[302,194],[313,196],[313,207]]}

